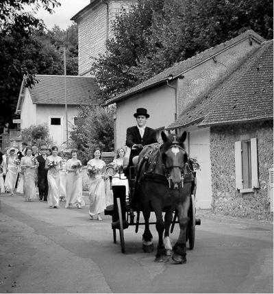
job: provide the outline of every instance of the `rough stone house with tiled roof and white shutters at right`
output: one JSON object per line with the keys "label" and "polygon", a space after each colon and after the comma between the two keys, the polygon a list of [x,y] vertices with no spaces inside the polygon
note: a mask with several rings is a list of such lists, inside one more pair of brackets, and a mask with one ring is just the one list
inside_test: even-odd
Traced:
{"label": "rough stone house with tiled roof and white shutters at right", "polygon": [[273,217],[273,40],[197,97],[168,129],[208,128],[212,209],[237,217]]}

